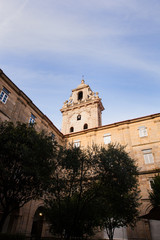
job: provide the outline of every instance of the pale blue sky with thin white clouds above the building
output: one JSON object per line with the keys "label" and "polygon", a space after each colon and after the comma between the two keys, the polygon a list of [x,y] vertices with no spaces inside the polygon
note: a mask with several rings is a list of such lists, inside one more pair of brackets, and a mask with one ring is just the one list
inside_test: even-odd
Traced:
{"label": "pale blue sky with thin white clouds above the building", "polygon": [[60,129],[82,80],[102,124],[160,112],[159,0],[0,0],[0,68]]}

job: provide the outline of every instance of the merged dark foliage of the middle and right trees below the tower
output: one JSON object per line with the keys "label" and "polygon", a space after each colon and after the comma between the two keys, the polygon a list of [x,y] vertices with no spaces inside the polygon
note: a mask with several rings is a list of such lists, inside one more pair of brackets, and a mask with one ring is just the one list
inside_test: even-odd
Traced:
{"label": "merged dark foliage of the middle and right trees below the tower", "polygon": [[137,167],[120,145],[59,149],[55,175],[46,200],[53,234],[65,238],[106,228],[133,225],[138,215]]}

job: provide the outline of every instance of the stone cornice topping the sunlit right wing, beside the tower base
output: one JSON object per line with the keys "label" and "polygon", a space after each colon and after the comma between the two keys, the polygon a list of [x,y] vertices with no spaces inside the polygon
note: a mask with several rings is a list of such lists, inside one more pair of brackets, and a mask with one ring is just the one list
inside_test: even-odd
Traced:
{"label": "stone cornice topping the sunlit right wing, beside the tower base", "polygon": [[118,126],[121,126],[121,125],[124,125],[124,124],[136,123],[136,122],[140,122],[140,121],[144,121],[144,120],[153,119],[153,118],[156,118],[156,117],[160,117],[160,113],[155,113],[155,114],[151,114],[151,115],[147,115],[147,116],[143,116],[143,117],[138,117],[138,118],[133,118],[133,119],[129,119],[129,120],[124,120],[124,121],[120,121],[120,122],[115,122],[115,123],[103,125],[103,126],[100,126],[100,127],[89,128],[89,129],[85,129],[85,130],[78,131],[78,132],[68,133],[68,134],[65,134],[64,137],[71,137],[71,136],[74,136],[74,135],[86,134],[86,133],[92,132],[92,131],[99,131],[99,130],[103,130],[105,128],[118,127]]}

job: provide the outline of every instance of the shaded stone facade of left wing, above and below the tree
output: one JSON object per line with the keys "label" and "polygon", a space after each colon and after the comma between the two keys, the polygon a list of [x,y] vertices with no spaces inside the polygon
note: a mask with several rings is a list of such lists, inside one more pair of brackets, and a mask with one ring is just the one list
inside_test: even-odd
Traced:
{"label": "shaded stone facade of left wing, above and below the tree", "polygon": [[[37,131],[44,130],[46,133],[52,133],[59,144],[64,144],[64,135],[2,70],[0,70],[0,121],[12,121],[14,123],[17,121],[33,123],[34,121]],[[3,231],[11,233],[19,232],[30,236],[35,214],[41,207],[42,201],[30,201],[8,218]],[[43,224],[41,230],[42,236],[49,235],[48,225]]]}

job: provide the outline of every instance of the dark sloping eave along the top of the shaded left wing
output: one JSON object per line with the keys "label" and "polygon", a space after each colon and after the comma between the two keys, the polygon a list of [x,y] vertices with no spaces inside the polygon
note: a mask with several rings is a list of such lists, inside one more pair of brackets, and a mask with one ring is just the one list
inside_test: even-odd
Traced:
{"label": "dark sloping eave along the top of the shaded left wing", "polygon": [[24,99],[27,101],[27,103],[34,108],[34,110],[41,115],[41,117],[46,120],[48,122],[48,124],[50,126],[52,126],[55,131],[61,135],[61,137],[63,138],[64,135],[63,133],[52,123],[52,121],[32,102],[32,100],[22,91],[20,90],[13,82],[12,80],[2,71],[2,69],[0,69],[0,76],[4,79],[6,79],[8,81],[9,84],[12,85],[13,89],[22,97],[24,97]]}

